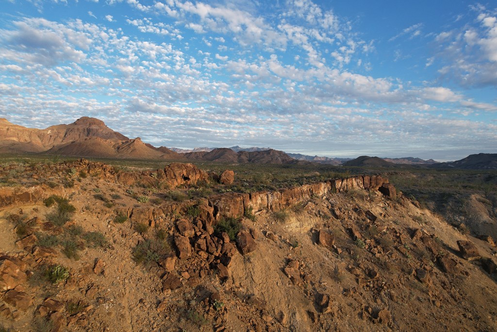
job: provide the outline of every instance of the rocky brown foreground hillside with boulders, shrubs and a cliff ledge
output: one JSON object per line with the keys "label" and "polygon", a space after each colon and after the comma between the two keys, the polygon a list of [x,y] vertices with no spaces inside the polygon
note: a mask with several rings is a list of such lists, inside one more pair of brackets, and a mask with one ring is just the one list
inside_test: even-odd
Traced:
{"label": "rocky brown foreground hillside with boulders, shrubs and a cliff ledge", "polygon": [[493,238],[385,176],[238,192],[230,170],[79,160],[0,178],[0,331],[496,331]]}

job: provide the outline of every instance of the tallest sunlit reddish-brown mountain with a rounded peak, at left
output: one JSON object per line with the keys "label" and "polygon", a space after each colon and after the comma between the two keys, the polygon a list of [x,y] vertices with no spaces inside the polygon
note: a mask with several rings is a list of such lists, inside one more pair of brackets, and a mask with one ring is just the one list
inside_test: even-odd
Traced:
{"label": "tallest sunlit reddish-brown mountain with a rounded peak, at left", "polygon": [[184,157],[166,147],[130,139],[97,118],[83,116],[70,124],[26,128],[0,119],[0,153],[38,152],[79,157],[173,159]]}

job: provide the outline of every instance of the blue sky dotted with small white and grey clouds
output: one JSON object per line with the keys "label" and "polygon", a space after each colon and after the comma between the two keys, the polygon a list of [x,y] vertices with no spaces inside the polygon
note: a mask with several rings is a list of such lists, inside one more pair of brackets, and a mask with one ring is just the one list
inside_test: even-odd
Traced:
{"label": "blue sky dotted with small white and grey clouds", "polygon": [[497,5],[0,0],[0,117],[155,146],[497,153]]}

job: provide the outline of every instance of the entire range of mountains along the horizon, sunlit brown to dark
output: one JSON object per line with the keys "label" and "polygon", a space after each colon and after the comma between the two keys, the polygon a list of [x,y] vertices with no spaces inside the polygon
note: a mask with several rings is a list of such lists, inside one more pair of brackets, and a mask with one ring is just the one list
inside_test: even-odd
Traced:
{"label": "entire range of mountains along the horizon, sunlit brown to dark", "polygon": [[361,156],[356,159],[329,158],[285,153],[271,148],[232,146],[231,148],[195,148],[191,150],[155,147],[139,137],[128,138],[107,127],[97,118],[83,116],[70,124],[46,129],[27,128],[0,118],[0,153],[45,153],[78,157],[200,160],[227,163],[323,164],[361,167],[405,167],[406,165],[436,168],[497,169],[497,154],[473,154],[462,160],[437,163],[433,159],[414,157],[379,158]]}

